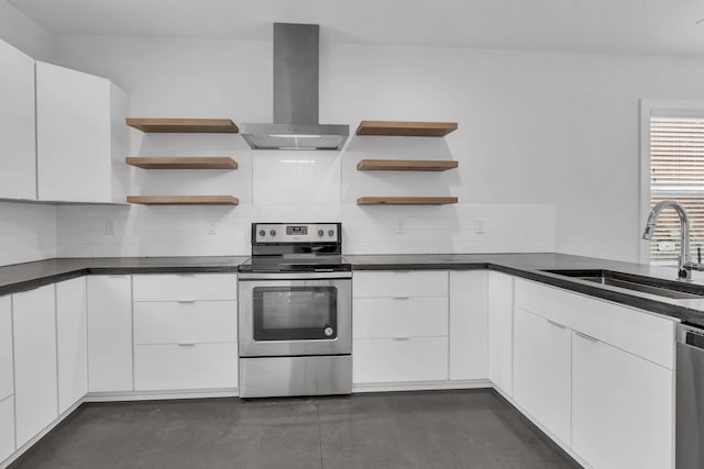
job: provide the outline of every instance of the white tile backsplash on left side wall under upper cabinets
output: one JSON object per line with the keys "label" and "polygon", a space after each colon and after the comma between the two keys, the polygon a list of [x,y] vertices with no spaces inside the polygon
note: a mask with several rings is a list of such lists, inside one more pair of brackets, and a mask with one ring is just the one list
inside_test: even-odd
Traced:
{"label": "white tile backsplash on left side wall under upper cabinets", "polygon": [[0,265],[56,257],[56,206],[0,202]]}

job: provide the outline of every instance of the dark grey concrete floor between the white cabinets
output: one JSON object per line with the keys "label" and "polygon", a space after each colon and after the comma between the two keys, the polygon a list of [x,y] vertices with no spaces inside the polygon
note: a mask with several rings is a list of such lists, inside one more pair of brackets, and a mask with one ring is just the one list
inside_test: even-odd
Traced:
{"label": "dark grey concrete floor between the white cabinets", "polygon": [[579,467],[490,390],[84,404],[12,468]]}

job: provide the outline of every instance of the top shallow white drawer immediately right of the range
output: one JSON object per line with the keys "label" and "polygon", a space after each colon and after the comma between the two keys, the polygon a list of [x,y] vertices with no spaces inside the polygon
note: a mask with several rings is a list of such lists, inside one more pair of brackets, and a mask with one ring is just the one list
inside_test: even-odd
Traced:
{"label": "top shallow white drawer immediately right of the range", "polygon": [[354,272],[354,298],[447,297],[448,272],[444,270]]}

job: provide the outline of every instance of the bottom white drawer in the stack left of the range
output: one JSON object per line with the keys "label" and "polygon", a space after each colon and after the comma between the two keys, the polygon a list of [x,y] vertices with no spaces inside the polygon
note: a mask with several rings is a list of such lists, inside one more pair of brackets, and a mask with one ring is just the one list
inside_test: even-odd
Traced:
{"label": "bottom white drawer in the stack left of the range", "polygon": [[238,345],[135,345],[138,391],[237,388]]}

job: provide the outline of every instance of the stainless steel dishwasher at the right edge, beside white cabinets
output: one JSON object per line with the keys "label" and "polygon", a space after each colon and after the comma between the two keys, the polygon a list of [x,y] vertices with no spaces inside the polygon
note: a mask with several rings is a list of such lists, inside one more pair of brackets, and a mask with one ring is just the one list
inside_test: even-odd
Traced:
{"label": "stainless steel dishwasher at the right edge, beside white cabinets", "polygon": [[678,469],[704,468],[704,330],[678,325]]}

